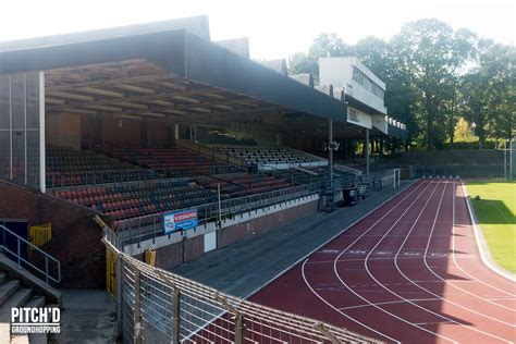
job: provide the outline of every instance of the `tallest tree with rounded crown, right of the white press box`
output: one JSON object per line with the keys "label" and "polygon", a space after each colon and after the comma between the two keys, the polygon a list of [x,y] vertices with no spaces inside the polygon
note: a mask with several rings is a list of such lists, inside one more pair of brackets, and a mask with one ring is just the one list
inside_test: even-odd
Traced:
{"label": "tallest tree with rounded crown, right of the white press box", "polygon": [[[404,25],[390,41],[400,67],[408,73],[417,91],[420,109],[417,121],[425,128],[421,138],[427,149],[440,148],[444,142],[445,102],[454,97],[451,85],[471,56],[471,40],[467,30],[455,33],[438,20],[420,20]],[[453,128],[453,119],[447,122]]]}

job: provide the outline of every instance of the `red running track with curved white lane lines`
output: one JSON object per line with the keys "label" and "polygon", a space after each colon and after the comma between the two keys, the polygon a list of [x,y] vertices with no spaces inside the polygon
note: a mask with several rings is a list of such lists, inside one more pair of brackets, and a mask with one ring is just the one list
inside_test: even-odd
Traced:
{"label": "red running track with curved white lane lines", "polygon": [[385,342],[516,341],[516,284],[482,263],[453,179],[414,183],[251,300]]}

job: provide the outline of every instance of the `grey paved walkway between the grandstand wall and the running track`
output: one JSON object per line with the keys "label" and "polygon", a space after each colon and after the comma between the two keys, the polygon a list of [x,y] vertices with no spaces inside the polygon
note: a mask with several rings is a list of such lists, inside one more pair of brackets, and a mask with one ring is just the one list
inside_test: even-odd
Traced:
{"label": "grey paved walkway between the grandstand wall and the running track", "polygon": [[171,271],[224,293],[248,297],[282,271],[341,233],[356,220],[396,195],[396,189],[374,192],[355,207],[318,212],[267,233],[202,255]]}

